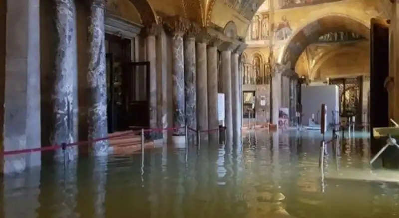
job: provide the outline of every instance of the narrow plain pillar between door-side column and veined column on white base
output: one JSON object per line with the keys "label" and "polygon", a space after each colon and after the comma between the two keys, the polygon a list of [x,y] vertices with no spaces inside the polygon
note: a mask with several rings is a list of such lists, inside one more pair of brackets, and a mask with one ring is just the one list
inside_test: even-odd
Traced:
{"label": "narrow plain pillar between door-side column and veined column on white base", "polygon": [[[164,31],[160,31],[157,36],[157,71],[158,71],[158,98],[160,99],[158,125],[163,129],[168,128],[168,71],[167,71],[167,44]],[[168,133],[164,131],[164,141],[167,140]]]}

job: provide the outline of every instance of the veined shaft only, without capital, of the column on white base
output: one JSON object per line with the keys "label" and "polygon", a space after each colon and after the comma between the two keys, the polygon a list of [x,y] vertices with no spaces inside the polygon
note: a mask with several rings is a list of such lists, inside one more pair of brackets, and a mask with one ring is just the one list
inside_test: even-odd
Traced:
{"label": "veined shaft only, without capital, of the column on white base", "polygon": [[175,130],[174,135],[185,134],[185,86],[184,86],[184,59],[183,59],[183,36],[175,34],[172,37],[172,64],[173,64],[173,126],[180,128]]}

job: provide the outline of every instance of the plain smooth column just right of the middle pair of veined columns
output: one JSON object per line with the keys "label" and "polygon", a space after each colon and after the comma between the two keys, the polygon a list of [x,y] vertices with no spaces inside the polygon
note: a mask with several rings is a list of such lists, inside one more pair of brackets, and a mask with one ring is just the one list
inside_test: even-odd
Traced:
{"label": "plain smooth column just right of the middle pair of veined columns", "polygon": [[[206,42],[197,43],[197,129],[208,129],[208,86],[206,70]],[[207,134],[201,134],[207,139]]]}

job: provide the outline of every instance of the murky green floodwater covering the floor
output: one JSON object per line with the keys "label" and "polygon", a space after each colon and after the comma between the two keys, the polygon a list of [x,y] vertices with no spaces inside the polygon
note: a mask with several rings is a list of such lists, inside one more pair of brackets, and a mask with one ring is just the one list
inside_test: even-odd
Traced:
{"label": "murky green floodwater covering the floor", "polygon": [[371,173],[366,134],[340,146],[323,171],[319,134],[296,131],[42,166],[4,177],[0,217],[397,218],[399,172]]}

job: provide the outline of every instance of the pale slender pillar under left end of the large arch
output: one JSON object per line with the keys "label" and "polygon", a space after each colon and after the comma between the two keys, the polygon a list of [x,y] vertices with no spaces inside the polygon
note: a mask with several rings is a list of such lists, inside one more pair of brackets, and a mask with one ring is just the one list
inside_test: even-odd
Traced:
{"label": "pale slender pillar under left end of the large arch", "polygon": [[281,106],[281,73],[276,71],[272,76],[272,117],[271,123],[278,124],[278,114]]}

